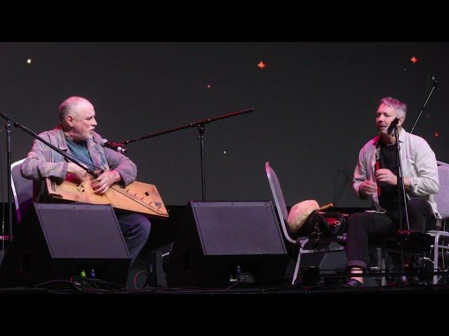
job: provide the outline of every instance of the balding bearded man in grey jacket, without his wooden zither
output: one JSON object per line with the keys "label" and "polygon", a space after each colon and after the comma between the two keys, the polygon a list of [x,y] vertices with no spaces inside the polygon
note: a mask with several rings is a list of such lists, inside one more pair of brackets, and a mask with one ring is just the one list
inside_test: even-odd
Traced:
{"label": "balding bearded man in grey jacket, without his wooden zither", "polygon": [[[60,125],[53,130],[39,134],[40,137],[74,156],[86,167],[104,172],[95,179],[91,185],[95,193],[106,193],[114,183],[123,183],[127,186],[133,182],[137,175],[135,164],[126,156],[100,146],[102,137],[95,133],[97,121],[95,110],[87,99],[69,97],[59,106]],[[22,163],[22,176],[26,179],[40,181],[47,177],[53,179],[74,179],[83,181],[86,171],[67,162],[62,155],[53,151],[39,140],[34,140],[27,159]],[[42,195],[40,188],[38,195]],[[149,236],[151,224],[148,218],[140,214],[116,214],[123,237],[130,252],[131,265],[138,257]]]}

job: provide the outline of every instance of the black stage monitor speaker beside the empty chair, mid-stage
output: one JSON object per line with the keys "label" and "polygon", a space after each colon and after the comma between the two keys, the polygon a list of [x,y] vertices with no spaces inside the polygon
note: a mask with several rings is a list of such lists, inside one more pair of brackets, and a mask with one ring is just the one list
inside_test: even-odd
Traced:
{"label": "black stage monitor speaker beside the empty chair, mid-stage", "polygon": [[189,202],[181,224],[168,286],[283,283],[288,255],[272,202]]}

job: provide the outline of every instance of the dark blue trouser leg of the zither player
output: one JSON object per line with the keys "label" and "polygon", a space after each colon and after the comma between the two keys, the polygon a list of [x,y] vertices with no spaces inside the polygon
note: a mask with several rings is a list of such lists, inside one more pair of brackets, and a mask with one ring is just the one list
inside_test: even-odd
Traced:
{"label": "dark blue trouser leg of the zither player", "polygon": [[151,223],[141,214],[116,213],[117,221],[125,238],[126,246],[131,256],[131,265],[138,258],[140,250],[147,242]]}

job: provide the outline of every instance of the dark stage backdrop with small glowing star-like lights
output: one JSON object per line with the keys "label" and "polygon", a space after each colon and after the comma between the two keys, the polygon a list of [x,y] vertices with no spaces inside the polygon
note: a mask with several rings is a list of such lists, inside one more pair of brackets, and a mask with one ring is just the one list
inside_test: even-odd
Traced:
{"label": "dark stage backdrop with small glowing star-like lights", "polygon": [[[0,43],[0,110],[41,132],[57,124],[62,100],[80,95],[95,106],[97,131],[121,141],[254,107],[206,125],[208,200],[269,199],[269,160],[288,205],[315,199],[361,207],[351,175],[361,146],[375,136],[380,98],[408,104],[410,130],[429,73],[440,90],[415,134],[449,162],[448,59],[449,43]],[[4,186],[5,139],[3,132]],[[31,144],[13,129],[13,161]],[[155,184],[166,204],[201,199],[196,129],[128,149],[138,181]]]}

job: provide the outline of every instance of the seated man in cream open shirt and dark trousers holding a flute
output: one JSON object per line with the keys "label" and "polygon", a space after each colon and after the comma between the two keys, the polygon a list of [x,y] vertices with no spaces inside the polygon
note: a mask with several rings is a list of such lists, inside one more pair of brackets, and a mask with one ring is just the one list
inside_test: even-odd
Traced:
{"label": "seated man in cream open shirt and dark trousers holding a flute", "polygon": [[[438,192],[438,169],[429,144],[402,128],[406,118],[406,104],[387,97],[380,101],[376,114],[377,137],[366,143],[358,155],[353,188],[358,197],[370,197],[375,212],[353,214],[347,223],[347,268],[351,279],[347,286],[363,286],[363,277],[357,276],[367,267],[368,238],[392,236],[399,229],[407,230],[405,205],[408,209],[410,230],[426,232],[434,229],[436,209],[433,194]],[[398,200],[398,160],[394,134],[388,128],[398,118],[399,143],[403,181],[407,200]],[[401,214],[398,212],[401,202]]]}

